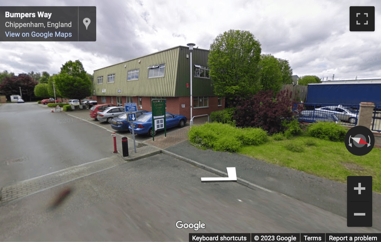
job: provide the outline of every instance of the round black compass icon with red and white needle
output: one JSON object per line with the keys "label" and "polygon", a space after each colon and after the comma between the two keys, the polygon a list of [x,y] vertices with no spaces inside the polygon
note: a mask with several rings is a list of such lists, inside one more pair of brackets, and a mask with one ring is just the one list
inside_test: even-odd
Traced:
{"label": "round black compass icon with red and white needle", "polygon": [[348,130],[344,143],[351,154],[366,155],[373,149],[375,136],[367,127],[355,126]]}

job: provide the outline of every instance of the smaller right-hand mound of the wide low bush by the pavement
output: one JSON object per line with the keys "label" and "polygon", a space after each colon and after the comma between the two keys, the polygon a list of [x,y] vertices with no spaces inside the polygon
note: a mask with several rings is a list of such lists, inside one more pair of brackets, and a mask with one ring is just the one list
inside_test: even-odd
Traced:
{"label": "smaller right-hand mound of the wide low bush by the pavement", "polygon": [[237,137],[243,145],[263,144],[269,139],[267,132],[261,128],[235,128],[235,130],[237,133],[234,136]]}

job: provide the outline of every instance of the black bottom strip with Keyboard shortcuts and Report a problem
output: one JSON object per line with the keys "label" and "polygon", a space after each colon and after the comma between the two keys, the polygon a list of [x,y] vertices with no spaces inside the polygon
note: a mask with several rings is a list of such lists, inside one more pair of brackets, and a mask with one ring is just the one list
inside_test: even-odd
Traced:
{"label": "black bottom strip with Keyboard shortcuts and Report a problem", "polygon": [[381,242],[381,234],[332,233],[190,233],[189,241],[208,242]]}

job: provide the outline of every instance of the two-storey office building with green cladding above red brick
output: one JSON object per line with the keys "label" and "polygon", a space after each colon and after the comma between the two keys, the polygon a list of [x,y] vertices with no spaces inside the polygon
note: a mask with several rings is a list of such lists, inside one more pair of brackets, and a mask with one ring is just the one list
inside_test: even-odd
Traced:
{"label": "two-storey office building with green cladding above red brick", "polygon": [[93,99],[101,103],[136,103],[151,111],[151,100],[166,99],[166,111],[185,115],[210,114],[224,108],[224,98],[213,93],[209,76],[209,50],[194,48],[192,70],[189,48],[177,46],[94,71]]}

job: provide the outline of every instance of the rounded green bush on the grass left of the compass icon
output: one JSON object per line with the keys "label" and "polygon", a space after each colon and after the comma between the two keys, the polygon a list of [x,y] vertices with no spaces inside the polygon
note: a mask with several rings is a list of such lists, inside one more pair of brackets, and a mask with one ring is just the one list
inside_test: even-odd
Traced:
{"label": "rounded green bush on the grass left of the compass icon", "polygon": [[309,136],[330,141],[344,141],[347,131],[347,128],[333,122],[312,123],[307,127]]}

